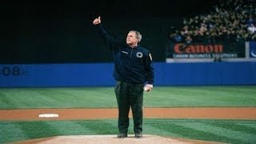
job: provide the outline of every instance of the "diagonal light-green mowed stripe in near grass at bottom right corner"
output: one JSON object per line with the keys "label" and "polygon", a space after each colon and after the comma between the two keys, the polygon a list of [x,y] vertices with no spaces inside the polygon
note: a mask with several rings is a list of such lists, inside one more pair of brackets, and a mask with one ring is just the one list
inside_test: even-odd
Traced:
{"label": "diagonal light-green mowed stripe in near grass at bottom right corner", "polygon": [[[219,122],[221,123],[221,122]],[[193,122],[192,123],[180,123],[179,126],[185,126],[189,129],[193,130],[199,130],[204,133],[209,133],[210,135],[217,136],[216,138],[223,137],[225,135],[228,139],[228,142],[232,143],[244,143],[244,142],[253,142],[255,141],[255,135],[254,134],[246,134],[241,131],[235,131],[223,128],[221,126],[212,125],[213,123],[206,123],[206,122]]]}

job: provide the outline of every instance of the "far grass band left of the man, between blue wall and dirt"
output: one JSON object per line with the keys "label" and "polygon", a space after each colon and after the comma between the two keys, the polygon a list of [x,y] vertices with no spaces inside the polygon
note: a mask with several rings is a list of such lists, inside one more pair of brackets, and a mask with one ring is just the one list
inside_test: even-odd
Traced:
{"label": "far grass band left of the man, between blue wall and dirt", "polygon": [[90,88],[74,88],[74,90],[73,88],[22,88],[10,90],[0,89],[0,94],[8,94],[6,97],[1,97],[4,102],[0,106],[2,109],[117,106],[114,94],[110,97],[108,94],[110,92],[103,93],[110,90],[107,88],[93,88],[92,90]]}

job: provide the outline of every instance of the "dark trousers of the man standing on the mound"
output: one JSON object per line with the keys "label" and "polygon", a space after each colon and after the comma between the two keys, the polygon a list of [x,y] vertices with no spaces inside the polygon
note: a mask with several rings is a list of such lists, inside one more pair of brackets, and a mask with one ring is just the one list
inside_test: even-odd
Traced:
{"label": "dark trousers of the man standing on the mound", "polygon": [[118,102],[118,129],[127,133],[130,107],[134,118],[134,133],[142,132],[143,84],[116,81],[114,89]]}

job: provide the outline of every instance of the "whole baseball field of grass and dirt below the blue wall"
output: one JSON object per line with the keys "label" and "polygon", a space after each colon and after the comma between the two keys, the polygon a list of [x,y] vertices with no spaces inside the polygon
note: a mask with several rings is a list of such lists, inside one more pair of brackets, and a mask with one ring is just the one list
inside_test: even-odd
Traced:
{"label": "whole baseball field of grass and dirt below the blue wall", "polygon": [[[0,143],[118,134],[113,87],[1,88],[0,109]],[[138,142],[156,135],[192,143],[256,143],[256,86],[155,86],[144,94],[143,124],[145,137]]]}

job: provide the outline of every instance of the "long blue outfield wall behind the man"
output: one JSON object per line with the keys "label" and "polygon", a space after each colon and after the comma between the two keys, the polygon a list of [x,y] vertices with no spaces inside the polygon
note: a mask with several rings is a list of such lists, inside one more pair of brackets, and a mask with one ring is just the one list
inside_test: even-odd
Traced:
{"label": "long blue outfield wall behind the man", "polygon": [[[113,63],[0,65],[0,87],[114,86]],[[154,86],[255,85],[256,62],[155,62]]]}

